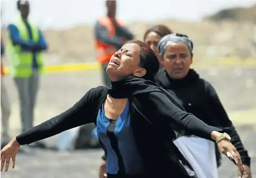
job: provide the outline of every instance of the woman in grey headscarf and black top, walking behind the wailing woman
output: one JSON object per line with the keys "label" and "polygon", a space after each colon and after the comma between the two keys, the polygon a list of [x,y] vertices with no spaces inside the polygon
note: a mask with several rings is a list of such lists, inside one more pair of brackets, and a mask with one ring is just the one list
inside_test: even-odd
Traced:
{"label": "woman in grey headscarf and black top, walking behind the wailing woman", "polygon": [[[187,112],[210,126],[224,129],[242,157],[245,175],[251,177],[250,157],[218,94],[208,81],[190,68],[193,62],[192,40],[184,34],[169,34],[160,40],[158,50],[164,69],[156,75],[156,83],[176,97]],[[174,144],[199,178],[218,177],[213,142],[190,134],[175,140]]]}

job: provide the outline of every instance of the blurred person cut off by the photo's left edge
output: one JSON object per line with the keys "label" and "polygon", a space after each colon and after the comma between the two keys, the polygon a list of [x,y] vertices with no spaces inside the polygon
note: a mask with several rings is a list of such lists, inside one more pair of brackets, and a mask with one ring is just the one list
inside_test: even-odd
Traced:
{"label": "blurred person cut off by the photo's left edge", "polygon": [[9,118],[11,115],[11,104],[7,93],[7,88],[4,83],[4,70],[2,57],[4,55],[4,44],[1,37],[1,149],[10,141],[9,136]]}

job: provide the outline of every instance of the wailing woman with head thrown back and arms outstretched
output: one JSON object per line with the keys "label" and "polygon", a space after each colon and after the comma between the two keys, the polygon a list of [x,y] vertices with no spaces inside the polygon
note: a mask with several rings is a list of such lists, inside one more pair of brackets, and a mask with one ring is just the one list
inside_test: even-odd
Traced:
{"label": "wailing woman with head thrown back and arms outstretched", "polygon": [[11,158],[14,168],[20,145],[95,123],[109,178],[190,177],[172,142],[187,133],[216,141],[243,173],[241,157],[222,129],[185,112],[171,94],[151,82],[158,69],[157,56],[147,44],[139,40],[124,44],[107,67],[112,85],[92,88],[69,110],[13,138],[1,150],[1,171],[4,165],[8,171]]}

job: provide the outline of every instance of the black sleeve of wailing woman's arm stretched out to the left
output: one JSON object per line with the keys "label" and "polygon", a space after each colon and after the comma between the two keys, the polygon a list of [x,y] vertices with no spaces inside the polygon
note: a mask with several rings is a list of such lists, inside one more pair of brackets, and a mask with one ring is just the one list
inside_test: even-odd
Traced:
{"label": "black sleeve of wailing woman's arm stretched out to the left", "polygon": [[93,97],[91,94],[95,93],[93,89],[95,88],[88,91],[72,108],[21,133],[16,137],[18,143],[20,145],[31,144],[35,141],[57,135],[65,130],[94,122],[96,113],[93,113],[95,111],[95,104],[92,103]]}

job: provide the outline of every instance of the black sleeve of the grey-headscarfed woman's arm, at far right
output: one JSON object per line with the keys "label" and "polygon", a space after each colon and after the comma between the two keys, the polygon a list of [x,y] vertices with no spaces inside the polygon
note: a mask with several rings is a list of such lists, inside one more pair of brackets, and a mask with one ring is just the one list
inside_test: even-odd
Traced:
{"label": "black sleeve of the grey-headscarfed woman's arm, at far right", "polygon": [[231,143],[235,146],[237,152],[241,155],[243,165],[250,166],[251,158],[249,157],[247,150],[244,149],[242,141],[238,136],[238,133],[233,126],[233,123],[231,122],[231,120],[229,120],[228,115],[219,100],[217,92],[215,91],[214,87],[208,82],[206,82],[206,93],[209,106],[213,111],[212,113],[215,113],[215,118],[219,121],[219,127],[223,129],[226,133],[228,133],[229,136],[231,136]]}

